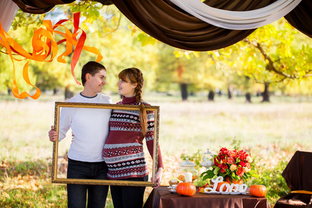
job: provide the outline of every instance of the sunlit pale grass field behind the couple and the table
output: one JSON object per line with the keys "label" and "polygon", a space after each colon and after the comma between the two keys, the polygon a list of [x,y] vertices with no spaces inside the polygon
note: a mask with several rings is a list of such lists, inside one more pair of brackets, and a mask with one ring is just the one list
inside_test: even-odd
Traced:
{"label": "sunlit pale grass field behind the couple and the table", "polygon": [[[117,95],[112,98],[119,101]],[[217,96],[214,102],[208,102],[206,96],[192,96],[187,102],[159,94],[144,98],[160,106],[162,185],[174,177],[181,157],[187,155],[198,162],[207,148],[216,153],[220,147],[236,144],[252,153],[261,178],[249,183],[266,184],[272,206],[289,191],[280,176],[289,159],[296,150],[312,151],[312,98],[272,96],[270,103],[260,103],[259,97],[253,97],[253,103],[225,96]],[[54,102],[64,98],[0,99],[0,207],[66,207],[66,186],[51,184],[53,144],[48,139]],[[146,197],[150,191],[148,187]],[[112,207],[110,198],[107,207]]]}

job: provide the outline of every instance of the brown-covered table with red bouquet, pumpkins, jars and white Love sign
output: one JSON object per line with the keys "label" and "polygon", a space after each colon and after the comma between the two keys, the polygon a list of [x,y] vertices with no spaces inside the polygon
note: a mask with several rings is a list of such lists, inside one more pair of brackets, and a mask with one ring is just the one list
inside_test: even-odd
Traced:
{"label": "brown-covered table with red bouquet, pumpkins, jars and white Love sign", "polygon": [[[209,149],[202,154],[201,166],[207,171],[198,173],[189,157],[180,163],[169,186],[154,189],[146,203],[149,207],[258,207],[269,208],[267,189],[261,184],[248,187],[250,177],[259,177],[250,163],[252,157],[243,150],[221,148],[217,155]],[[193,182],[202,177],[207,184],[196,187]]]}

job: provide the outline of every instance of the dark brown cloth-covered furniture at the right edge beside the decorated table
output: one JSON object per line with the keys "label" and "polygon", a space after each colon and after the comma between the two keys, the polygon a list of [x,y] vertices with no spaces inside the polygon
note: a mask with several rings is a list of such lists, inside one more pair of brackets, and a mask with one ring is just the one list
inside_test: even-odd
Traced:
{"label": "dark brown cloth-covered furniture at the right edge beside the decorated table", "polygon": [[[312,191],[312,153],[295,152],[281,175],[291,191]],[[280,207],[312,207],[312,194],[289,193],[274,205],[274,208]]]}

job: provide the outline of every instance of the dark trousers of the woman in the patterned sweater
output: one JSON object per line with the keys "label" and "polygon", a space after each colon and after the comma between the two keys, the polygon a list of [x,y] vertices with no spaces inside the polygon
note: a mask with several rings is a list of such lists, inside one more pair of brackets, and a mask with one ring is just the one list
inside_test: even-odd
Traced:
{"label": "dark trousers of the woman in the patterned sweater", "polygon": [[[148,181],[148,175],[144,177],[130,177],[124,180]],[[142,208],[145,187],[110,186],[110,193],[114,208]]]}

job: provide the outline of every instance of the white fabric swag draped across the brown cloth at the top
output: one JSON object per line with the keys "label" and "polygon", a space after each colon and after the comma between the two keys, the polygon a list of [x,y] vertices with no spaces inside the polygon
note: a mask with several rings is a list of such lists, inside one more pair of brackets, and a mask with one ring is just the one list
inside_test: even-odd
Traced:
{"label": "white fabric swag draped across the brown cloth at the top", "polygon": [[170,0],[189,14],[214,26],[231,30],[259,28],[281,19],[293,10],[301,0],[278,0],[257,10],[220,10],[199,0]]}

